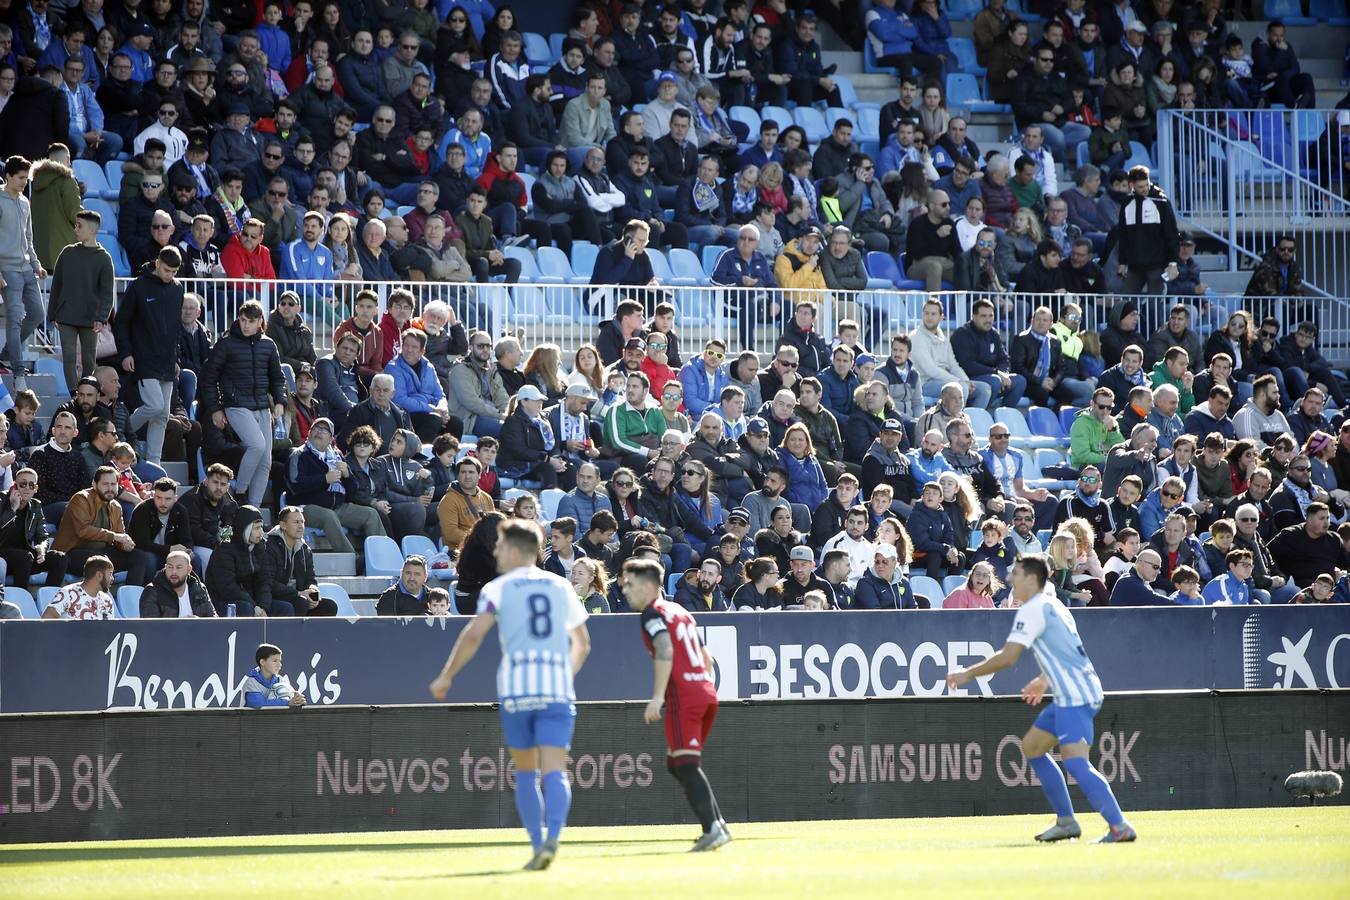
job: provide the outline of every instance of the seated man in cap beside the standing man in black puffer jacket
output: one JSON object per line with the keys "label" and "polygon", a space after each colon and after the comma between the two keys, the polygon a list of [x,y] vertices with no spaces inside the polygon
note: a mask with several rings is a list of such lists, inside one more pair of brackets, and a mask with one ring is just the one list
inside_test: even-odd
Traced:
{"label": "seated man in cap beside the standing man in black puffer jacket", "polygon": [[[313,375],[309,375],[313,381]],[[300,383],[300,375],[296,376]],[[286,494],[290,503],[302,506],[309,528],[323,532],[324,548],[331,553],[354,553],[355,548],[343,529],[362,537],[385,533],[379,513],[347,499],[344,480],[351,472],[342,453],[333,447],[333,424],[325,417],[313,420],[305,443],[290,452],[286,463]],[[362,542],[364,544],[364,541]]]}

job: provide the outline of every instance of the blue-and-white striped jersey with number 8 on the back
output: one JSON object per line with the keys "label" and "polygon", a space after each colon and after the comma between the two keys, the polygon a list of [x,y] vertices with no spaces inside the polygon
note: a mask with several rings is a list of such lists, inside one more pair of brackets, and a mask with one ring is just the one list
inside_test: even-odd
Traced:
{"label": "blue-and-white striped jersey with number 8 on the back", "polygon": [[533,565],[500,575],[478,595],[497,619],[502,661],[497,696],[508,712],[572,703],[571,637],[590,615],[564,578]]}

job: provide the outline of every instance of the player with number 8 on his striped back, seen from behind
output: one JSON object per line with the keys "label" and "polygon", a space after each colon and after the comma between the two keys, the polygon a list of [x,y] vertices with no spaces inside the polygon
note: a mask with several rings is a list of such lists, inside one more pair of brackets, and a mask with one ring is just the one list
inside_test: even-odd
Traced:
{"label": "player with number 8 on his striped back, seen from behind", "polygon": [[498,526],[494,553],[501,575],[483,587],[478,615],[459,633],[431,683],[432,696],[444,699],[487,633],[501,626],[497,695],[502,735],[516,764],[516,810],[535,849],[526,869],[548,868],[567,824],[572,791],[563,766],[576,722],[572,677],[590,653],[589,614],[576,591],[567,579],[535,565],[543,544],[535,522],[510,519]]}

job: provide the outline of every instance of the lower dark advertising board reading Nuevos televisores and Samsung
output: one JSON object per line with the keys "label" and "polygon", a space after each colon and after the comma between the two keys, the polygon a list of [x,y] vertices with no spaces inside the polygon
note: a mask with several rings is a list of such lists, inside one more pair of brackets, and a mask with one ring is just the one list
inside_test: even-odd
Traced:
{"label": "lower dark advertising board reading Nuevos televisores and Samsung", "polygon": [[[1014,699],[730,703],[706,768],[730,822],[1044,812],[1019,745],[1033,716]],[[1284,806],[1289,772],[1345,770],[1347,723],[1345,694],[1111,696],[1092,756],[1127,811]],[[483,706],[5,716],[0,841],[514,827],[500,735]],[[687,822],[663,754],[641,704],[583,704],[572,823]]]}

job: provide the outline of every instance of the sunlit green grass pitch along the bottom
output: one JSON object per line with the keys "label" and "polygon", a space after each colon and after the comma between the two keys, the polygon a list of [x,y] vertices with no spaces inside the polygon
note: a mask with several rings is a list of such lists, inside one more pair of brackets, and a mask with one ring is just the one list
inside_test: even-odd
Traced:
{"label": "sunlit green grass pitch along the bottom", "polygon": [[[1084,837],[1104,828],[1079,816]],[[19,845],[8,897],[1350,897],[1350,810],[1137,812],[1134,845],[1035,845],[1044,816],[570,828],[554,868],[518,872],[524,833],[405,831]]]}

